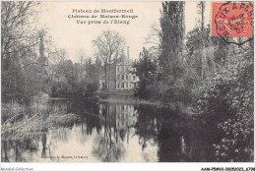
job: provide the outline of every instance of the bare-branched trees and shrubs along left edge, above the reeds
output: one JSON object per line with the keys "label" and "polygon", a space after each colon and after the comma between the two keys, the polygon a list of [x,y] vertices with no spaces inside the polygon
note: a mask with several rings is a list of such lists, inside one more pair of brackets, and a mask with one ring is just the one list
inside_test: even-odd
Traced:
{"label": "bare-branched trees and shrubs along left edge, above the reeds", "polygon": [[2,2],[1,63],[3,101],[30,102],[34,95],[47,92],[45,70],[47,35],[34,23],[40,3]]}

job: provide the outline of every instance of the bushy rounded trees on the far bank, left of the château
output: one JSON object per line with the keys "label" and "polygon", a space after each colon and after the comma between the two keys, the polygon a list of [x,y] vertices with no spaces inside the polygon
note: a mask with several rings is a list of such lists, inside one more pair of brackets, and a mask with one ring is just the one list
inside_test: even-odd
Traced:
{"label": "bushy rounded trees on the far bank, left of the ch\u00e2teau", "polygon": [[91,59],[85,64],[75,65],[71,60],[64,60],[56,64],[54,70],[53,97],[88,97],[97,90],[96,64]]}

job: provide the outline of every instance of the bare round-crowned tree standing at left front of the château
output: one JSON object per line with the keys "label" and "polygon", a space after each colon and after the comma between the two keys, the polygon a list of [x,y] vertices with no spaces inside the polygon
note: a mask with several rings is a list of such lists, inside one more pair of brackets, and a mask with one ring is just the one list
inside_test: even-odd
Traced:
{"label": "bare round-crowned tree standing at left front of the ch\u00e2teau", "polygon": [[116,61],[117,57],[122,52],[125,40],[116,31],[104,30],[95,40],[93,40],[93,43],[96,46],[96,54],[104,63],[104,88],[109,88],[111,64]]}

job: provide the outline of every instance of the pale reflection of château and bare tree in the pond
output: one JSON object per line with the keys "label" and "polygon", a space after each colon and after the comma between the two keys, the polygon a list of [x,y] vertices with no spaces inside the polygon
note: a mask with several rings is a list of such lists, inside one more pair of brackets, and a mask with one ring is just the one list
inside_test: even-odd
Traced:
{"label": "pale reflection of ch\u00e2teau and bare tree in the pond", "polygon": [[98,119],[102,130],[96,136],[93,153],[103,162],[120,161],[136,118],[132,105],[99,104]]}

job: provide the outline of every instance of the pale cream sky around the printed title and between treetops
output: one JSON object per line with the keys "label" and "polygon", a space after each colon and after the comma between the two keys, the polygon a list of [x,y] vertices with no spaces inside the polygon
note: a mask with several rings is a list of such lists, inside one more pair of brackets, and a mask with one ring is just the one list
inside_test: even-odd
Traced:
{"label": "pale cream sky around the printed title and between treetops", "polygon": [[[209,3],[209,2],[207,2]],[[77,19],[69,19],[73,9],[94,10],[95,9],[133,9],[132,14],[137,19],[130,20],[130,24],[77,24]],[[38,23],[52,36],[58,48],[66,49],[68,58],[78,61],[78,53],[84,51],[87,56],[94,57],[95,49],[92,40],[96,39],[103,30],[115,30],[126,40],[126,46],[130,49],[130,58],[137,59],[145,44],[145,38],[151,32],[153,24],[160,24],[160,2],[43,2],[43,12],[38,16]],[[89,15],[93,13],[77,13],[78,15]],[[210,5],[206,6],[206,25],[210,23]],[[98,15],[98,14],[97,14]],[[100,14],[99,14],[100,15]],[[116,14],[109,14],[116,15]],[[195,27],[197,21],[197,2],[186,2],[185,4],[185,27],[186,32]],[[82,21],[88,19],[82,19]],[[101,22],[103,19],[101,19]],[[124,19],[120,19],[124,20]]]}

